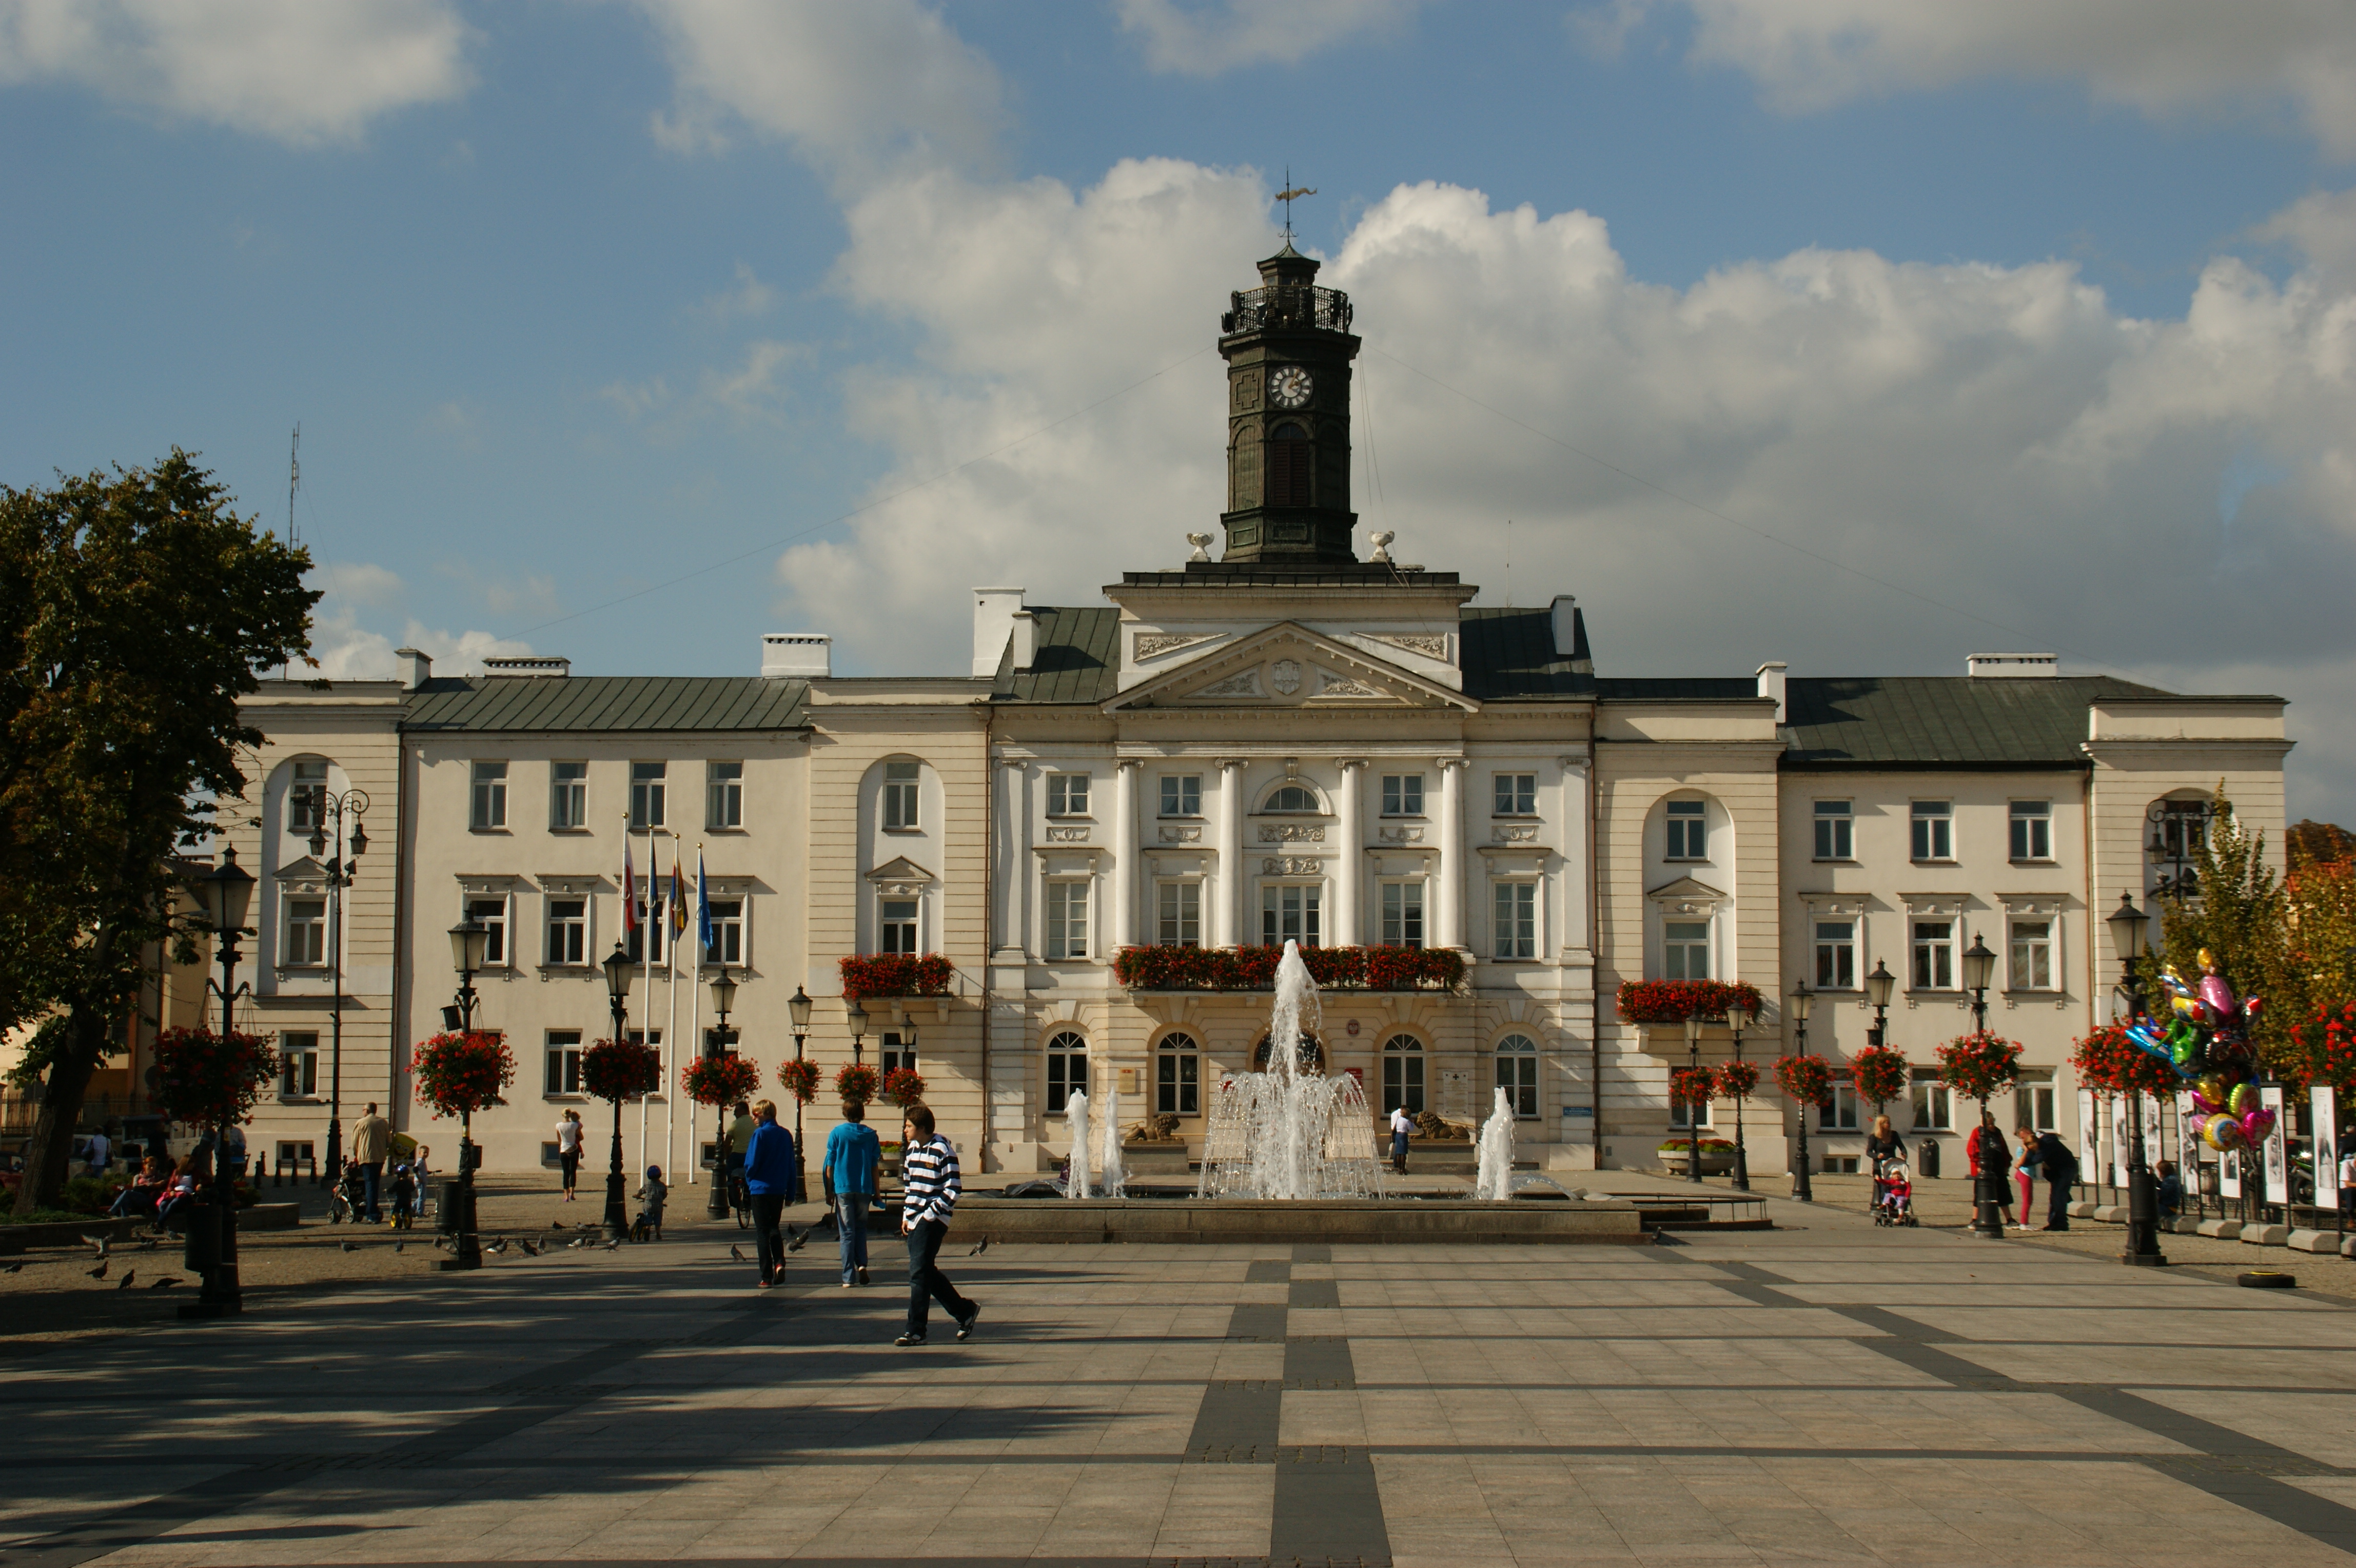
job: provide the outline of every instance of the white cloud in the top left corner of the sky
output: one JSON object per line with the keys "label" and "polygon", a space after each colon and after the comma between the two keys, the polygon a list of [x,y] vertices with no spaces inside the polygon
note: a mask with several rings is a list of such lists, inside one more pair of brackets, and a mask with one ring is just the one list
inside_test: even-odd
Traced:
{"label": "white cloud in the top left corner of the sky", "polygon": [[464,92],[466,40],[450,0],[0,0],[0,85],[311,146]]}

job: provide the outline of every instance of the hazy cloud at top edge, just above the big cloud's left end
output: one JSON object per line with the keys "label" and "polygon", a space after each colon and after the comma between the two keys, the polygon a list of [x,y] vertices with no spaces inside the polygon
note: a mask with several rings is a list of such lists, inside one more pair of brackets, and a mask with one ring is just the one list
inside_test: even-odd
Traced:
{"label": "hazy cloud at top edge, just above the big cloud's left end", "polygon": [[749,127],[827,174],[900,158],[987,165],[1001,113],[997,68],[919,0],[638,0],[671,57],[679,99],[655,115],[676,153]]}

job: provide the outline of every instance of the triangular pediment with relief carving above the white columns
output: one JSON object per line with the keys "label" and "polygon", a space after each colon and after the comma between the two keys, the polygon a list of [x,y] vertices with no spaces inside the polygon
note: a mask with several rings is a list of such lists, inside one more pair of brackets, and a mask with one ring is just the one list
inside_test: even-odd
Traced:
{"label": "triangular pediment with relief carving above the white columns", "polygon": [[1475,711],[1463,692],[1435,685],[1364,647],[1319,636],[1298,622],[1277,622],[1246,638],[1218,643],[1133,685],[1117,709],[1458,709]]}

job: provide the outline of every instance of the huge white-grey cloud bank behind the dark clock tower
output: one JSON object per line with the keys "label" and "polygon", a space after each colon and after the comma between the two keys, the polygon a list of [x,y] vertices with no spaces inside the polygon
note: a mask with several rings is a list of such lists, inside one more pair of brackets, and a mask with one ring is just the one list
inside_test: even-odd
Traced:
{"label": "huge white-grey cloud bank behind the dark clock tower", "polygon": [[[1593,214],[1392,191],[1324,273],[1366,341],[1362,537],[1399,530],[1404,560],[1498,603],[1515,518],[1517,600],[1579,593],[1607,673],[1944,673],[2059,647],[2196,690],[2337,692],[2356,669],[2356,283],[2328,242],[2356,233],[2349,200],[2276,221],[2316,247],[2285,283],[2217,259],[2182,318],[2132,320],[2066,264],[1802,250],[1675,290],[1630,278]],[[794,624],[834,631],[851,666],[961,669],[945,607],[966,586],[1098,603],[1216,527],[1220,363],[1197,351],[1275,245],[1258,177],[1124,162],[1074,193],[926,174],[848,217],[839,287],[907,323],[924,360],[848,377],[858,433],[900,457],[876,494],[1006,450],[789,549]]]}

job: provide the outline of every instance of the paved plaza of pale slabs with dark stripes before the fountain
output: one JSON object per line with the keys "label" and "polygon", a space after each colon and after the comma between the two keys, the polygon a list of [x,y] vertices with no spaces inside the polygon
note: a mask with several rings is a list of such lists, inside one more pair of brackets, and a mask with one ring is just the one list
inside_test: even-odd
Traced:
{"label": "paved plaza of pale slabs with dark stripes before the fountain", "polygon": [[733,1227],[0,1363],[9,1563],[2347,1563],[2356,1311],[2038,1245],[1015,1248],[980,1335]]}

